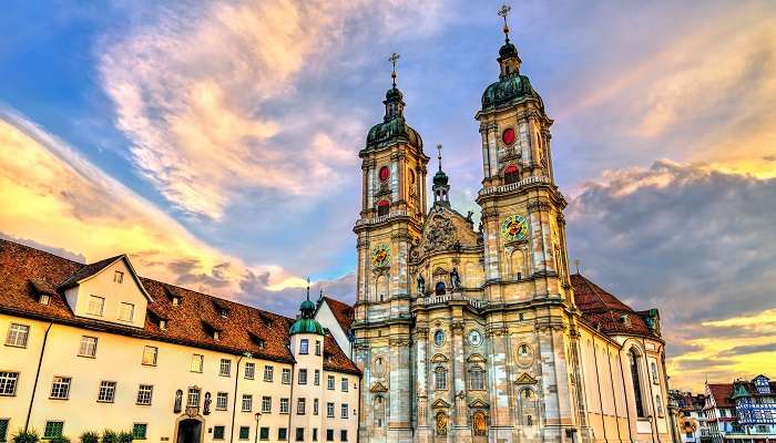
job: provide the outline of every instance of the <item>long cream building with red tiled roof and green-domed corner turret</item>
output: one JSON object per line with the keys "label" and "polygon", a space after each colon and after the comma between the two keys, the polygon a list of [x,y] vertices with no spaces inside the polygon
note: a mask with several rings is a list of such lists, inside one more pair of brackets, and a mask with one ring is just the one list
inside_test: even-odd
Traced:
{"label": "long cream building with red tiled roof and green-domed corner turret", "polygon": [[360,371],[298,319],[0,240],[0,442],[354,442]]}

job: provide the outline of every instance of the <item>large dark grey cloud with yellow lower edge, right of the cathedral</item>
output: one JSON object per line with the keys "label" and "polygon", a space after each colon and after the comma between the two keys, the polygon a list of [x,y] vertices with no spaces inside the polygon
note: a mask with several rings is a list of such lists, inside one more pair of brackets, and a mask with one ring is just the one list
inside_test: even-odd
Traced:
{"label": "large dark grey cloud with yellow lower edge, right of the cathedral", "polygon": [[776,340],[774,200],[776,178],[705,165],[607,171],[570,199],[570,256],[635,309],[660,308],[674,383],[697,388],[709,360],[756,373],[747,356]]}

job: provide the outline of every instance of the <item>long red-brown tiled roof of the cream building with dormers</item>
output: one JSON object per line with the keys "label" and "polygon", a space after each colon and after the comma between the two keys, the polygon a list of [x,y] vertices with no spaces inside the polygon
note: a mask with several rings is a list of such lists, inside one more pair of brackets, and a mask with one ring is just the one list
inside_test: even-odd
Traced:
{"label": "long red-brown tiled roof of the cream building with dormers", "polygon": [[[49,305],[38,302],[41,291],[59,288],[72,281],[73,276],[83,279],[93,275],[89,272],[95,272],[95,268],[104,268],[105,261],[115,259],[82,265],[0,239],[0,312],[235,354],[247,351],[280,362],[294,361],[286,346],[293,319],[149,278],[140,278],[153,299],[142,329],[75,317],[61,291],[53,291]],[[172,303],[171,293],[180,297],[178,306]],[[222,309],[226,309],[226,318],[221,316]],[[167,320],[166,329],[160,329],[159,319]],[[210,329],[219,331],[218,340],[213,339]],[[327,370],[359,373],[335,340],[324,341],[324,353],[329,356]]]}

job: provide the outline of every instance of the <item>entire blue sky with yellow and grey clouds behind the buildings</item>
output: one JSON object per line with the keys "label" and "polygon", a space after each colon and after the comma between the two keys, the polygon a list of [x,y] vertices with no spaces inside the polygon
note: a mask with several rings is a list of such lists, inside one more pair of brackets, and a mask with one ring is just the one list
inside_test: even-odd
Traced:
{"label": "entire blue sky with yellow and grey clouds behind the buildings", "polygon": [[[11,1],[0,236],[293,316],[353,301],[360,161],[392,52],[406,116],[476,209],[499,2]],[[776,362],[776,3],[524,1],[569,250],[661,311],[672,385]]]}

